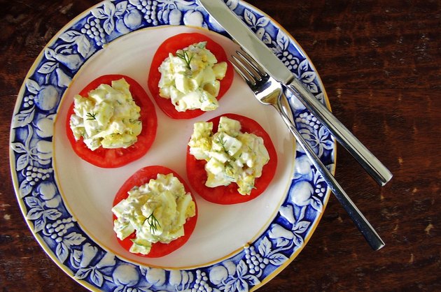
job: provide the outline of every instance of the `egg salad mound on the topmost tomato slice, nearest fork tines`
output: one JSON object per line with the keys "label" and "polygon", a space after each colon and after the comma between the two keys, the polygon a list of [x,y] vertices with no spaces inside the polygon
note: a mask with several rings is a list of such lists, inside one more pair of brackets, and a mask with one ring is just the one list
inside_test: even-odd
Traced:
{"label": "egg salad mound on the topmost tomato slice, nearest fork tines", "polygon": [[195,43],[169,53],[160,68],[158,86],[160,96],[170,98],[177,111],[200,109],[216,110],[221,82],[227,72],[227,63],[218,62],[205,48],[207,42]]}

